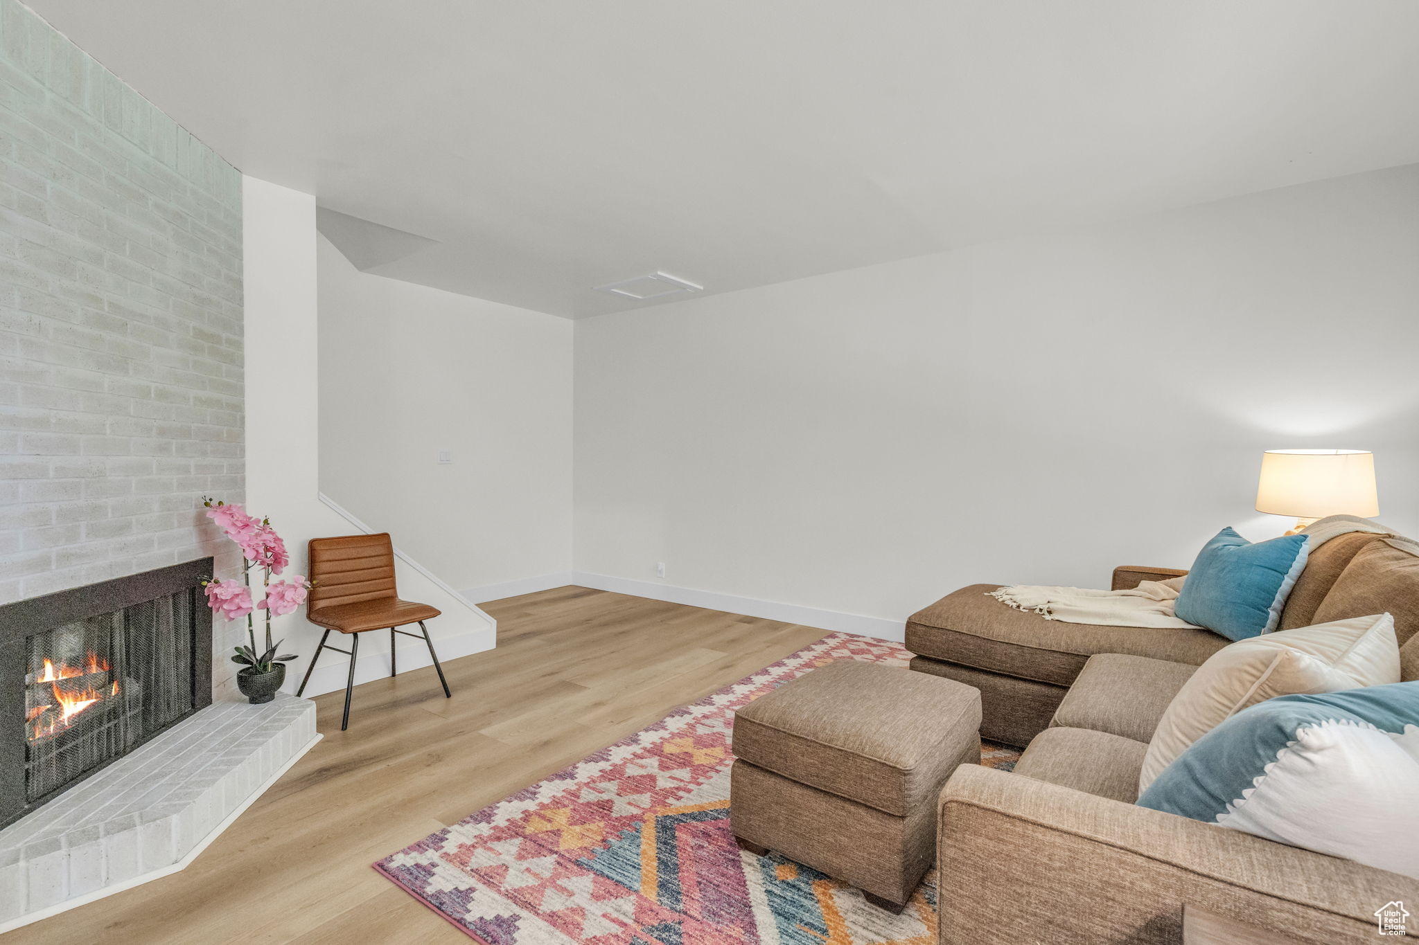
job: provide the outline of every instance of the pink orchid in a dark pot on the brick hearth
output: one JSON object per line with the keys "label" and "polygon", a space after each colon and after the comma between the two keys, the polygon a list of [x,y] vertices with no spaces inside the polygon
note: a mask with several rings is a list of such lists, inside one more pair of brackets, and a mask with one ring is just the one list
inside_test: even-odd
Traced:
{"label": "pink orchid in a dark pot on the brick hearth", "polygon": [[[277,656],[281,640],[271,642],[271,618],[294,612],[305,602],[305,594],[311,589],[311,582],[304,575],[292,575],[281,581],[272,581],[271,575],[280,575],[291,564],[291,555],[285,550],[281,536],[271,527],[270,519],[248,516],[238,503],[226,503],[216,499],[203,497],[201,504],[207,509],[207,517],[216,521],[228,538],[241,547],[241,584],[236,581],[203,581],[207,592],[207,606],[214,613],[220,613],[228,621],[247,618],[248,646],[238,646],[231,657],[233,663],[250,666],[253,673],[270,673],[277,663],[292,660],[295,656]],[[251,571],[261,572],[261,599],[253,601]],[[265,611],[265,650],[257,652],[257,630],[253,611]],[[245,670],[243,670],[245,672]]]}

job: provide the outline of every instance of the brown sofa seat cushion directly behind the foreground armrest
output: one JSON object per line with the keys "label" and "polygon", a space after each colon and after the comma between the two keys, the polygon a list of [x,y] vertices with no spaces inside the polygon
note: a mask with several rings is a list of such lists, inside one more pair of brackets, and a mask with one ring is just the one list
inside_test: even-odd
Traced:
{"label": "brown sofa seat cushion directly behind the foreground armrest", "polygon": [[1132,803],[1147,751],[1141,741],[1104,731],[1046,728],[1015,762],[1015,774]]}

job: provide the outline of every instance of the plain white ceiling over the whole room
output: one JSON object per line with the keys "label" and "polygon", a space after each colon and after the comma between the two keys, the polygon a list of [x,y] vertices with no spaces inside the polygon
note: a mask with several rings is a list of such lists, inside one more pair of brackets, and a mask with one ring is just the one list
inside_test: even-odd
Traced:
{"label": "plain white ceiling over the whole room", "polygon": [[433,241],[369,271],[569,317],[1419,162],[1413,0],[31,6],[243,171]]}

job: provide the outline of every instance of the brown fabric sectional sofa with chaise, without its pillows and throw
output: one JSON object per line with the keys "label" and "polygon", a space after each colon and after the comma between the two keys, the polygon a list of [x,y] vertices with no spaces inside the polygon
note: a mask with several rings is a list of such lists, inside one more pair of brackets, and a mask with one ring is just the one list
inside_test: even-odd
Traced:
{"label": "brown fabric sectional sofa with chaise, without its pillows and throw", "polygon": [[[1120,568],[1115,587],[1176,574]],[[944,945],[1175,945],[1185,905],[1279,942],[1374,942],[1375,910],[1419,905],[1413,878],[1134,805],[1158,720],[1227,640],[1044,621],[995,587],[948,595],[907,630],[912,669],[981,689],[983,737],[1027,744],[1013,774],[964,765],[941,792]],[[1352,533],[1313,553],[1281,628],[1384,611],[1403,679],[1419,680],[1419,545]]]}

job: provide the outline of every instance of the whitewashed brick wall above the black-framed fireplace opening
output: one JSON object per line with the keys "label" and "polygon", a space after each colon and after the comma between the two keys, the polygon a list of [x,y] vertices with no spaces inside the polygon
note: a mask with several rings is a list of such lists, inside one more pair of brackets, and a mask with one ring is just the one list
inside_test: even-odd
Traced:
{"label": "whitewashed brick wall above the black-framed fireplace opening", "polygon": [[230,571],[241,366],[241,174],[0,0],[0,602]]}

